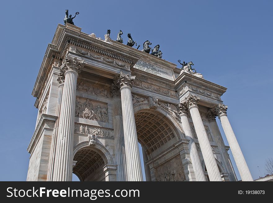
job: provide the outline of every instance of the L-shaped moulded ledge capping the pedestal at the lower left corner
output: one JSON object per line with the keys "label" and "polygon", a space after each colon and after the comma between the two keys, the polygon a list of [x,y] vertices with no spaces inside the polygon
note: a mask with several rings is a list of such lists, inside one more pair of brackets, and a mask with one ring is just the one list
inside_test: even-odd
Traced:
{"label": "L-shaped moulded ledge capping the pedestal at the lower left corner", "polygon": [[29,146],[27,148],[27,151],[29,153],[31,153],[35,143],[37,142],[38,138],[39,138],[39,134],[44,126],[44,124],[46,122],[49,122],[49,123],[55,123],[56,122],[56,119],[58,118],[58,116],[54,116],[54,115],[48,115],[48,114],[42,114],[41,115],[41,118],[38,122],[38,125],[33,133],[33,136],[29,142]]}

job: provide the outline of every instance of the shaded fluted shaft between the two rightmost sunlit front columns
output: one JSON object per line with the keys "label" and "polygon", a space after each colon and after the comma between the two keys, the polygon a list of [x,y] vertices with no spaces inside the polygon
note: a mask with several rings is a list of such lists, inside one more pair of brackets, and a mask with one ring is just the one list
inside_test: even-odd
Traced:
{"label": "shaded fluted shaft between the two rightmost sunlit front columns", "polygon": [[231,168],[230,162],[229,162],[229,156],[226,151],[225,143],[222,138],[221,132],[218,128],[218,125],[215,121],[215,119],[210,120],[210,126],[212,129],[212,133],[215,136],[217,146],[219,147],[219,151],[221,152],[223,156],[223,163],[226,166],[226,169],[228,170],[227,172],[229,173],[229,178],[231,181],[236,181],[236,176],[233,173],[233,169]]}

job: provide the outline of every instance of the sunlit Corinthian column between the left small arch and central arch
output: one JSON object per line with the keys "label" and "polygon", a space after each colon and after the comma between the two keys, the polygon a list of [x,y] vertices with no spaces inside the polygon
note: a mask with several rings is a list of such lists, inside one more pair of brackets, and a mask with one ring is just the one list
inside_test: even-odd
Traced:
{"label": "sunlit Corinthian column between the left small arch and central arch", "polygon": [[135,76],[124,75],[121,72],[117,84],[121,93],[127,180],[143,181],[131,94],[134,80]]}

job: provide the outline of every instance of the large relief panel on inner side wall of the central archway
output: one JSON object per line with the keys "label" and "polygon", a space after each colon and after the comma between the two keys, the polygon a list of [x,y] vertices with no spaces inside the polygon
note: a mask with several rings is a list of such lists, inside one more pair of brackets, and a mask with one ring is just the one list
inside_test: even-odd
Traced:
{"label": "large relief panel on inner side wall of the central archway", "polygon": [[178,155],[166,163],[155,168],[157,181],[185,181],[186,176],[181,162],[181,157]]}

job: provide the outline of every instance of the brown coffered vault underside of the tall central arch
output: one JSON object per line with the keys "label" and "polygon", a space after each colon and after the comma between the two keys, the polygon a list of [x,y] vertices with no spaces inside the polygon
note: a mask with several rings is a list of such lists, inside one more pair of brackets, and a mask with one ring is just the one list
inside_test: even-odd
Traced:
{"label": "brown coffered vault underside of the tall central arch", "polygon": [[165,149],[170,143],[185,138],[176,119],[161,107],[150,109],[149,104],[139,103],[134,106],[134,113],[138,140],[145,146],[149,158],[154,151],[162,151],[159,150],[162,146]]}

